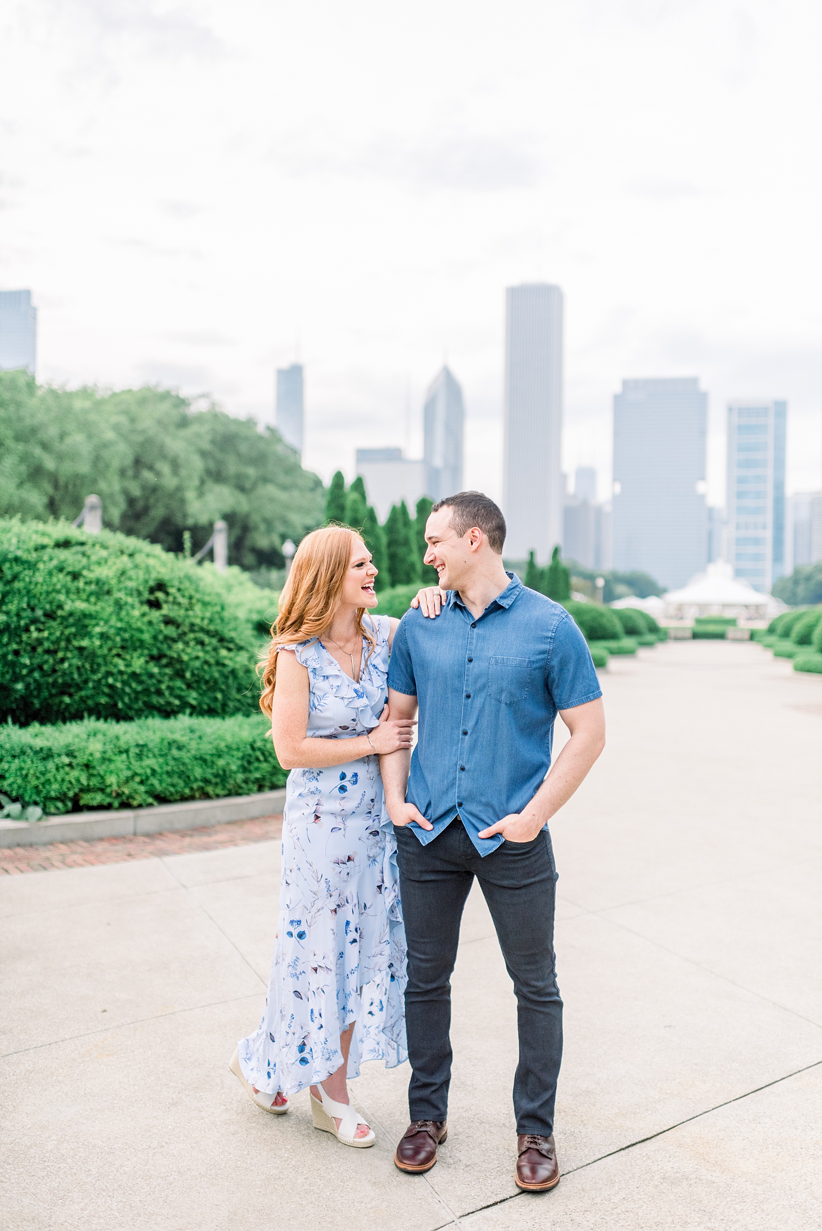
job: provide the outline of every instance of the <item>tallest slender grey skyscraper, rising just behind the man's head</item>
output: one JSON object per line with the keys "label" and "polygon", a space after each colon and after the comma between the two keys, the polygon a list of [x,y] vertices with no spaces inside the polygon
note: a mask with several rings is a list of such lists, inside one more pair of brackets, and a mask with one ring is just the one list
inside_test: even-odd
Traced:
{"label": "tallest slender grey skyscraper, rising just behind the man's head", "polygon": [[506,291],[502,505],[506,555],[544,564],[562,542],[562,292],[546,283]]}

